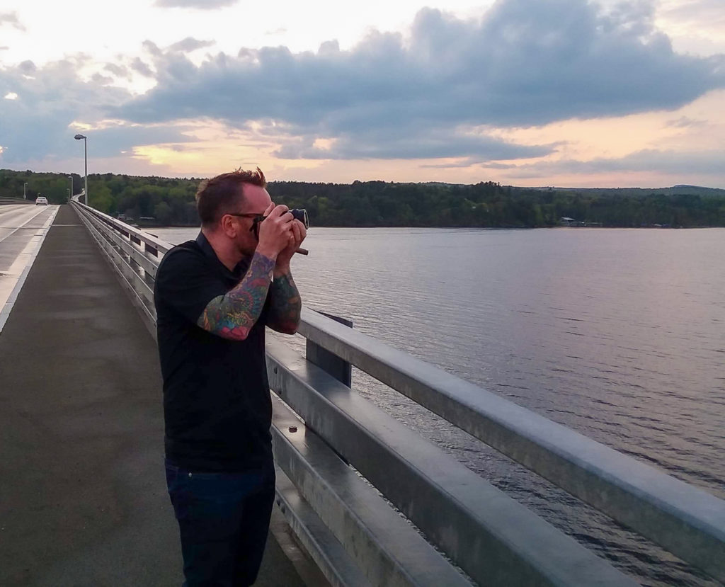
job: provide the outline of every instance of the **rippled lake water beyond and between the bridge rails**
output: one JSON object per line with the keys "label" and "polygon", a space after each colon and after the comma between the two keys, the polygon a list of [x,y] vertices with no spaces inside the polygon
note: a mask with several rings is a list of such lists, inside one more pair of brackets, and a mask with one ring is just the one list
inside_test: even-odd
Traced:
{"label": "rippled lake water beyond and between the bridge rails", "polygon": [[[725,499],[725,229],[312,228],[305,247],[309,307]],[[718,584],[365,374],[353,387],[641,583]]]}

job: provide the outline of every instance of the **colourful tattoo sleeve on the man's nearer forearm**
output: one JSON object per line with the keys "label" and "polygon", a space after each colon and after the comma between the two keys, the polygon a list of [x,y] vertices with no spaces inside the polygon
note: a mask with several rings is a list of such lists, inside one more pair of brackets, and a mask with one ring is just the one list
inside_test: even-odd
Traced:
{"label": "colourful tattoo sleeve on the man's nearer forearm", "polygon": [[244,279],[225,295],[207,304],[196,325],[232,341],[243,341],[260,317],[267,299],[275,262],[254,253]]}

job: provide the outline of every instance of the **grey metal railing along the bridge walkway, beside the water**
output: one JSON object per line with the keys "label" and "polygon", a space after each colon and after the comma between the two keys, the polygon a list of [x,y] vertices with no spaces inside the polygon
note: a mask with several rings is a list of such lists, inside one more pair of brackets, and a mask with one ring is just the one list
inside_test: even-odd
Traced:
{"label": "grey metal railing along the bridge walkway, beside the water", "polygon": [[[171,245],[72,205],[155,337]],[[268,341],[278,504],[334,585],[636,584],[354,393],[340,362],[725,581],[725,501],[310,309],[299,333],[307,357]]]}

